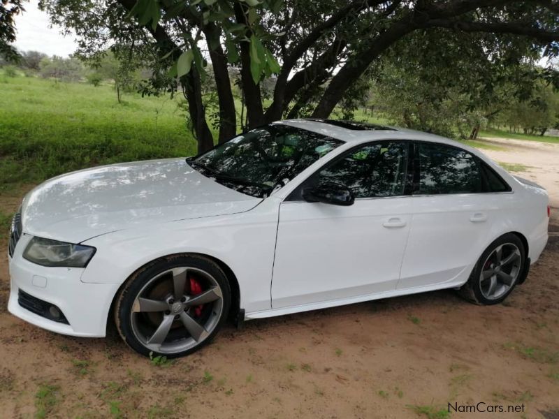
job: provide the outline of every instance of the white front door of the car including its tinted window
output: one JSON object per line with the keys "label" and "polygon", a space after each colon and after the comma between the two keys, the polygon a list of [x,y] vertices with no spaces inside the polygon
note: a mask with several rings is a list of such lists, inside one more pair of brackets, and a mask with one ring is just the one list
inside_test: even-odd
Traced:
{"label": "white front door of the car including its tinted window", "polygon": [[[274,309],[393,291],[411,221],[409,142],[355,147],[303,182],[279,207]],[[303,189],[346,186],[350,206],[311,203]]]}

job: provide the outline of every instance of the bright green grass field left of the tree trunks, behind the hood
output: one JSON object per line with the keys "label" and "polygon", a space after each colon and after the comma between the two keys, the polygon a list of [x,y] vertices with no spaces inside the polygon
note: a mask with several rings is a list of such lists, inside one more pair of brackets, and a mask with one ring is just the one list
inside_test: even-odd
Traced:
{"label": "bright green grass field left of the tree trunks, behind the hood", "polygon": [[106,163],[196,153],[178,97],[126,94],[118,103],[110,86],[1,72],[0,96],[3,189]]}

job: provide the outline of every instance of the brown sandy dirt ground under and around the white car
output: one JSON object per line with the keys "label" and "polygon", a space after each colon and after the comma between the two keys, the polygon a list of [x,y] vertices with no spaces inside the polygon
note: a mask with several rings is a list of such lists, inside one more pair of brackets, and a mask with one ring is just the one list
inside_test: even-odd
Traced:
{"label": "brown sandy dirt ground under and around the white car", "polygon": [[[487,154],[532,166],[522,175],[558,207],[559,146],[506,146]],[[13,211],[20,197],[0,202]],[[10,316],[2,257],[0,417],[559,418],[559,209],[552,214],[542,258],[504,304],[439,291],[250,321],[175,362]],[[448,413],[448,403],[479,402],[504,413]]]}

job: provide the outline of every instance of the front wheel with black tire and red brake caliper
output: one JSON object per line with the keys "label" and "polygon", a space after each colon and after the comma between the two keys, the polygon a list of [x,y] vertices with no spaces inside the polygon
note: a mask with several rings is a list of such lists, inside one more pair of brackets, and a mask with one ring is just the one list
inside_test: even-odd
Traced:
{"label": "front wheel with black tire and red brake caliper", "polygon": [[134,351],[178,358],[210,343],[226,321],[226,274],[203,256],[156,260],[124,284],[115,305],[119,335]]}

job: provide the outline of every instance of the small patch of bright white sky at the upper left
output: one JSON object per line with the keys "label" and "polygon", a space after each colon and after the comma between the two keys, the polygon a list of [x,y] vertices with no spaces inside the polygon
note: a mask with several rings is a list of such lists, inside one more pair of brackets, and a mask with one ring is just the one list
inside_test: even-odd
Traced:
{"label": "small patch of bright white sky at the upper left", "polygon": [[75,51],[73,36],[61,34],[61,27],[51,27],[47,13],[38,9],[38,1],[24,3],[25,11],[15,18],[15,47],[20,51],[38,51],[67,57]]}

